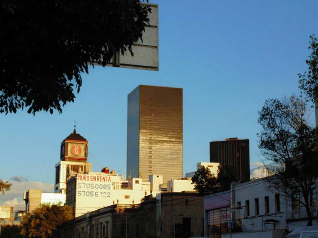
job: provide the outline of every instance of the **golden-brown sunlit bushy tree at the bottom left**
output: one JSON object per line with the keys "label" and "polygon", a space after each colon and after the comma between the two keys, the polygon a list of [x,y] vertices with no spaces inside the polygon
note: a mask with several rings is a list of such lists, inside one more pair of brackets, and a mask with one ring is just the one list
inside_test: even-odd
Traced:
{"label": "golden-brown sunlit bushy tree at the bottom left", "polygon": [[27,237],[60,237],[71,230],[68,221],[73,219],[72,207],[42,204],[22,218],[21,235]]}

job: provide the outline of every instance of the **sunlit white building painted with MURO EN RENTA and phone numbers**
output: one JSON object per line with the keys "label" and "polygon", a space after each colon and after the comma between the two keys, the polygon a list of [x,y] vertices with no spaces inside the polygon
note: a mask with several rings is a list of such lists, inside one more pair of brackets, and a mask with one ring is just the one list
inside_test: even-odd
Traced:
{"label": "sunlit white building painted with MURO EN RENTA and phone numbers", "polygon": [[147,194],[161,193],[162,175],[150,175],[149,180],[121,180],[114,173],[77,174],[67,181],[66,204],[73,207],[75,217],[115,203],[137,204]]}

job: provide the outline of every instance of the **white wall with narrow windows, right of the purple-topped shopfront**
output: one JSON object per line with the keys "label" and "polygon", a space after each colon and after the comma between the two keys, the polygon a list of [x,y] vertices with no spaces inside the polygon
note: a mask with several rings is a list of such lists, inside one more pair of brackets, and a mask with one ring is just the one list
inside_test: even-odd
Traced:
{"label": "white wall with narrow windows, right of the purple-topped shopfront", "polygon": [[[304,207],[292,196],[273,192],[270,178],[252,180],[231,185],[231,212],[235,226],[242,229],[232,237],[271,237],[282,235],[285,230],[294,230],[307,225]],[[310,195],[313,224],[317,224],[316,188]],[[222,235],[230,237],[230,234]]]}

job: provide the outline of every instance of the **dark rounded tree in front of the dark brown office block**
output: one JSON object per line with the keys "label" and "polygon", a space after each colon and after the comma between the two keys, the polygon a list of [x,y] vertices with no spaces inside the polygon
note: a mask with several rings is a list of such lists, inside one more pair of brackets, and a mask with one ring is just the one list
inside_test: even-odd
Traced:
{"label": "dark rounded tree in front of the dark brown office block", "polygon": [[219,166],[218,176],[214,176],[208,167],[201,166],[191,178],[194,188],[201,195],[214,194],[231,189],[236,181],[236,173],[232,166]]}

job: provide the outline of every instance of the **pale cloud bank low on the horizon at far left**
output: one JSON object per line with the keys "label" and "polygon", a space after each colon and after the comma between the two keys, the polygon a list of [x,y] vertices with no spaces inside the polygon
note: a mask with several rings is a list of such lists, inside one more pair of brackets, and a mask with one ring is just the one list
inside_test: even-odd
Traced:
{"label": "pale cloud bank low on the horizon at far left", "polygon": [[[11,180],[12,178],[14,178],[14,180]],[[29,182],[25,181],[23,177],[19,176],[14,176],[12,178],[9,180],[9,182],[12,183],[10,190],[5,191],[4,194],[0,194],[0,205],[13,206],[15,211],[25,210],[25,203],[23,201],[24,191],[28,191],[29,189],[40,189],[43,193],[53,192],[54,184]]]}

